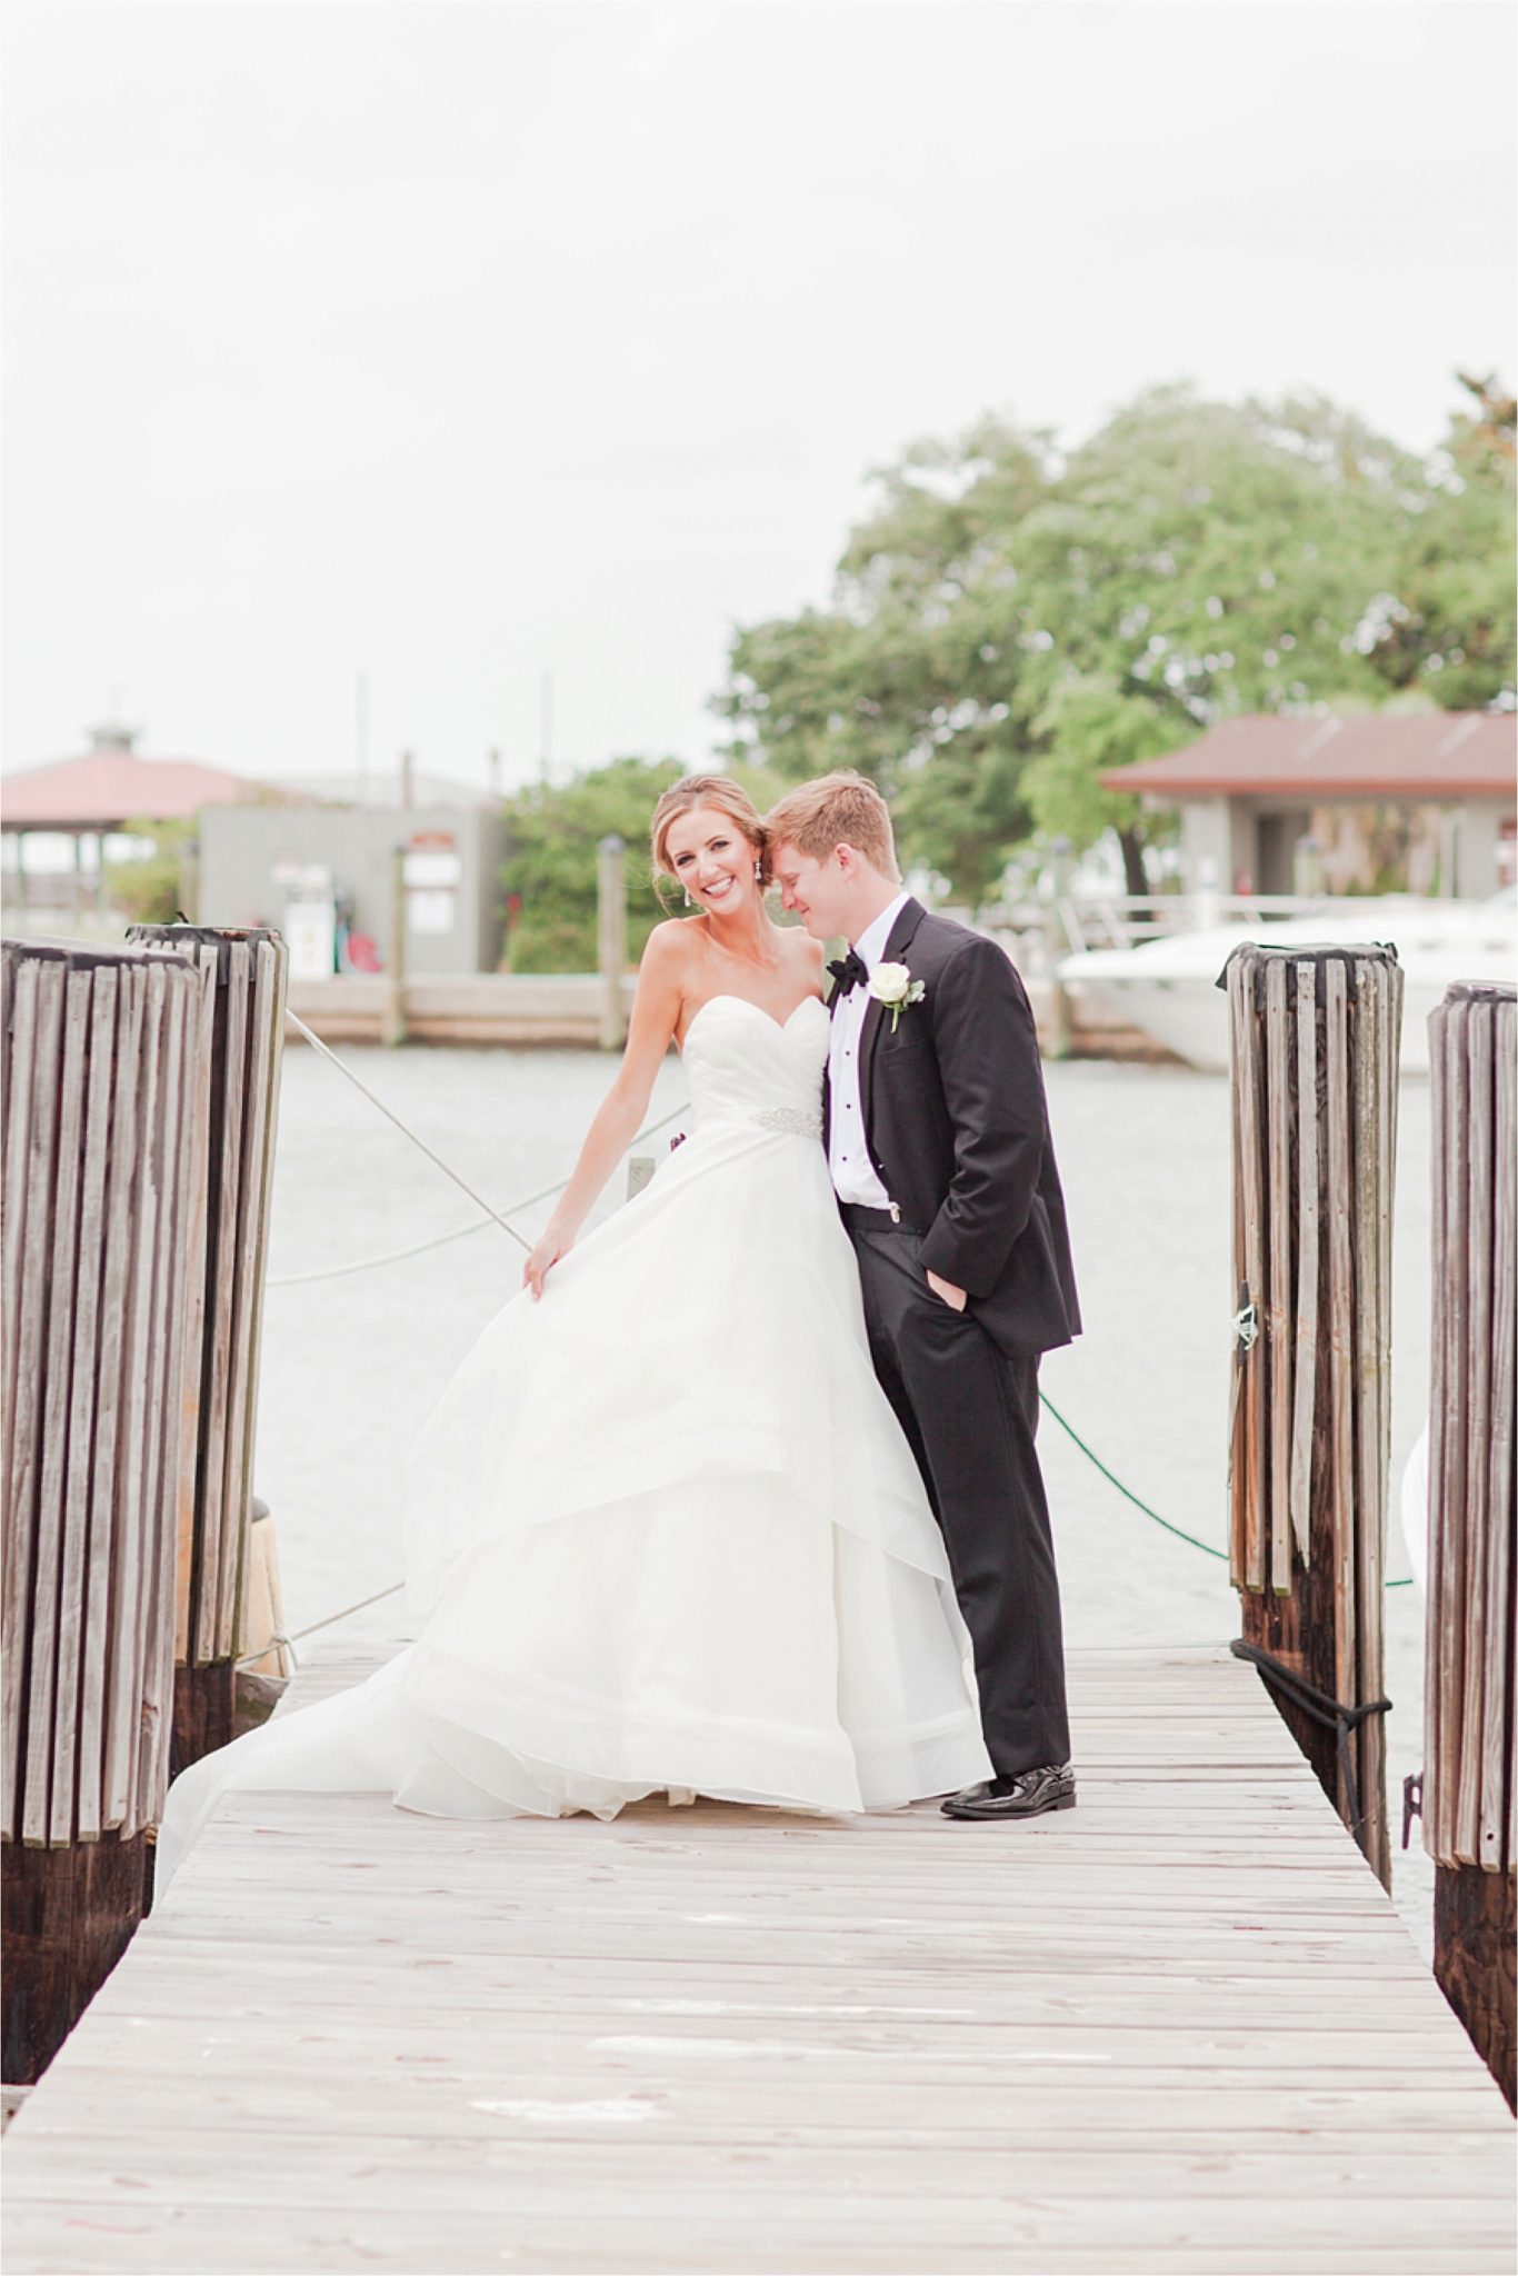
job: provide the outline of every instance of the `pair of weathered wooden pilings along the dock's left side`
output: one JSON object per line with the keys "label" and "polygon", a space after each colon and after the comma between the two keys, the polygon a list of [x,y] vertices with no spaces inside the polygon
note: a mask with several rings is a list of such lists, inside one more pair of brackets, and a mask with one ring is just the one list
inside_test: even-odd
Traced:
{"label": "pair of weathered wooden pilings along the dock's left side", "polygon": [[0,992],[5,2078],[27,2083],[141,1919],[171,1768],[232,1734],[284,951],[5,942]]}

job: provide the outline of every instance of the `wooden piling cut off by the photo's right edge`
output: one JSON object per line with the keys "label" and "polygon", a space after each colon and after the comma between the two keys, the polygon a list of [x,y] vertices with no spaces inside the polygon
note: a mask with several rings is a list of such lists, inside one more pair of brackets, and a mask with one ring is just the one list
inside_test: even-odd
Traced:
{"label": "wooden piling cut off by the photo's right edge", "polygon": [[1513,1352],[1518,995],[1429,1020],[1434,1336],[1422,1839],[1434,1973],[1509,2103],[1513,2028]]}

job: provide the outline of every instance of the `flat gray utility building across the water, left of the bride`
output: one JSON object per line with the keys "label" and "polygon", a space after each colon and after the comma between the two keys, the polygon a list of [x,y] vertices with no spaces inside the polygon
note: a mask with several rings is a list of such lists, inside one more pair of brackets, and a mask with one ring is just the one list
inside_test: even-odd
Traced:
{"label": "flat gray utility building across the water, left of the bride", "polygon": [[396,787],[419,801],[391,790],[394,803],[205,808],[200,924],[275,924],[291,979],[389,972],[401,851],[407,974],[494,972],[505,924],[501,801],[426,778]]}

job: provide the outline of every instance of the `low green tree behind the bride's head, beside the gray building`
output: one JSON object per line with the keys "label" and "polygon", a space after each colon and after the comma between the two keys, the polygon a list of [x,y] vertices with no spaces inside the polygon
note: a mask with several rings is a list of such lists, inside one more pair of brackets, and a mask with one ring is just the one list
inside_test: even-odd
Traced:
{"label": "low green tree behind the bride's head, beside the gray building", "polygon": [[[653,881],[649,822],[660,794],[678,783],[674,758],[614,758],[562,785],[535,783],[505,801],[508,960],[512,972],[596,970],[596,849],[621,838],[628,849],[628,956],[637,960],[653,926],[680,908],[665,879]],[[778,794],[774,776],[733,772],[762,810]]]}

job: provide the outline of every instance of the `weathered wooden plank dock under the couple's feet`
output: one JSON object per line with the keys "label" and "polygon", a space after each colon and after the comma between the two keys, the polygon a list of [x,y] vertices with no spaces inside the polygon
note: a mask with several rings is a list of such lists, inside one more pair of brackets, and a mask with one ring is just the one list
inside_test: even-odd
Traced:
{"label": "weathered wooden plank dock under the couple's feet", "polygon": [[1072,1709],[1024,1828],[232,1798],[7,2135],[9,2276],[1511,2269],[1507,2108],[1256,1675]]}

